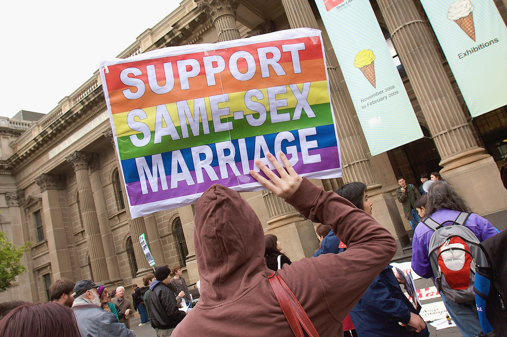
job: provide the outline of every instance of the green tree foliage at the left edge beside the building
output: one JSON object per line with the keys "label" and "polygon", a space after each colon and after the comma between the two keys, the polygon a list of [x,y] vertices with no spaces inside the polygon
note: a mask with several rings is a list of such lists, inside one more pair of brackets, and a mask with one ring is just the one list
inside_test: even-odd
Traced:
{"label": "green tree foliage at the left edge beside the building", "polygon": [[16,248],[4,232],[0,232],[0,292],[6,291],[16,276],[26,272],[21,257],[30,246],[30,242]]}

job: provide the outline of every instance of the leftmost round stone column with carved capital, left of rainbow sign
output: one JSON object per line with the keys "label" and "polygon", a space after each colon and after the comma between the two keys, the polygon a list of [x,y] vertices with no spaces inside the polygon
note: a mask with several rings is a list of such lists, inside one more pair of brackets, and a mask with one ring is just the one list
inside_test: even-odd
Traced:
{"label": "leftmost round stone column with carved capital, left of rainbow sign", "polygon": [[76,151],[65,160],[73,166],[78,183],[81,215],[88,242],[90,264],[95,282],[109,281],[104,246],[100,235],[100,227],[97,217],[97,209],[93,201],[92,186],[90,183],[88,168],[91,156],[84,152]]}

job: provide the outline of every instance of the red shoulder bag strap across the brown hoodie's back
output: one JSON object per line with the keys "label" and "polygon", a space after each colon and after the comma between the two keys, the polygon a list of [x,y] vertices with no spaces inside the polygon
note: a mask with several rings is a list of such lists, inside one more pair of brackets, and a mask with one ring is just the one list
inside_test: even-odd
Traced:
{"label": "red shoulder bag strap across the brown hoodie's back", "polygon": [[303,330],[301,329],[301,326],[303,326],[310,337],[319,337],[312,321],[280,275],[275,272],[268,277],[268,281],[294,335],[296,337],[304,337]]}

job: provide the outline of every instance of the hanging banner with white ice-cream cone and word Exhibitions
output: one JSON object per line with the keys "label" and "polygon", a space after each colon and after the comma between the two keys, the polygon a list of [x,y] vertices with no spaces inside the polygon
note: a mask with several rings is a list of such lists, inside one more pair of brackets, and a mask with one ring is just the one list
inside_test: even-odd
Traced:
{"label": "hanging banner with white ice-cream cone and word Exhibitions", "polygon": [[507,28],[492,0],[421,0],[470,115],[507,104]]}

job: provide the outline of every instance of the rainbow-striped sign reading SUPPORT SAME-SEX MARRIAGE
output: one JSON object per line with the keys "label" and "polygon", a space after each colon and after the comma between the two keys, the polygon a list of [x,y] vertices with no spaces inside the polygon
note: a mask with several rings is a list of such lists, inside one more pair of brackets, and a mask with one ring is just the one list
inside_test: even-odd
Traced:
{"label": "rainbow-striped sign reading SUPPORT SAME-SEX MARRIAGE", "polygon": [[307,177],[341,176],[320,31],[170,47],[102,61],[102,87],[132,217],[194,203],[280,151]]}

